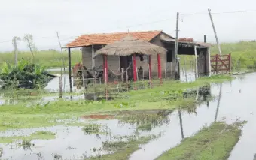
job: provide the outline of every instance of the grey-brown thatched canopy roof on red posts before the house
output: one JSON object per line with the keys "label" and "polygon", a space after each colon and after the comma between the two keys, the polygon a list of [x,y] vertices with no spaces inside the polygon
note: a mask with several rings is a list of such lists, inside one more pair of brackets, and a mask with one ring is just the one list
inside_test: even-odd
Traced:
{"label": "grey-brown thatched canopy roof on red posts before the house", "polygon": [[109,56],[130,56],[134,53],[157,55],[166,52],[167,50],[163,47],[151,44],[148,41],[133,38],[131,35],[127,35],[121,41],[115,41],[113,44],[108,44],[102,49],[96,51],[96,56],[100,54]]}

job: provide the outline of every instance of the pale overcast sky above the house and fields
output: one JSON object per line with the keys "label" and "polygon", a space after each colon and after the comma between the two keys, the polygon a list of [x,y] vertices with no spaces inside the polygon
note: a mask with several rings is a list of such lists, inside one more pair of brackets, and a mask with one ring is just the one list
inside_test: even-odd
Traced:
{"label": "pale overcast sky above the house and fields", "polygon": [[[215,41],[208,14],[256,10],[255,0],[0,0],[0,51],[13,50],[11,39],[30,33],[39,50],[58,48],[86,33],[163,30],[175,36],[176,12],[181,13],[180,37]],[[256,39],[256,12],[213,14],[221,42]],[[155,23],[152,23],[155,22]],[[6,41],[6,42],[4,42]],[[18,44],[26,50],[26,44]]]}

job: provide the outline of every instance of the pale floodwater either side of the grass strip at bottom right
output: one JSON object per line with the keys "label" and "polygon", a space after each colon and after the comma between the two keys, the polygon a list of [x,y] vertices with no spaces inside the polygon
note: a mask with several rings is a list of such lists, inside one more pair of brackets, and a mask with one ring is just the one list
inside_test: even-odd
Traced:
{"label": "pale floodwater either side of the grass strip at bottom right", "polygon": [[[142,149],[134,152],[130,160],[133,159],[154,159],[162,152],[178,145],[182,140],[181,126],[184,137],[190,137],[195,134],[204,125],[210,125],[212,122],[226,120],[228,123],[236,122],[237,119],[247,120],[248,123],[242,130],[242,137],[230,154],[229,160],[253,159],[256,150],[254,144],[256,139],[256,74],[246,74],[238,76],[238,79],[232,82],[225,82],[221,85],[212,85],[211,92],[219,95],[221,89],[221,99],[211,101],[209,107],[201,104],[197,108],[197,115],[181,113],[182,123],[178,112],[172,113],[169,125],[154,128],[155,130],[164,130],[165,134],[157,140],[142,146]],[[157,146],[157,147],[156,147]]]}

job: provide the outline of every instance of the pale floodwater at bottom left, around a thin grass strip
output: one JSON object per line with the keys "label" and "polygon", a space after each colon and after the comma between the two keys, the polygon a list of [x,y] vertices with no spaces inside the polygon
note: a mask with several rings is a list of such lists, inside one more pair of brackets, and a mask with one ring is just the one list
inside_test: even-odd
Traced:
{"label": "pale floodwater at bottom left, around a thin grass strip", "polygon": [[[35,131],[52,131],[56,133],[57,137],[53,140],[32,140],[35,146],[31,146],[30,149],[17,147],[16,143],[0,144],[4,151],[2,158],[34,160],[38,159],[37,154],[41,153],[44,159],[53,159],[54,154],[61,155],[62,159],[83,159],[83,155],[95,156],[96,153],[93,152],[93,148],[100,148],[102,142],[111,140],[115,136],[129,136],[134,133],[132,125],[119,125],[118,120],[97,121],[95,123],[102,125],[101,131],[105,134],[99,136],[96,136],[96,134],[87,135],[82,131],[82,127],[66,126],[4,132],[0,136],[27,136]],[[106,152],[100,153],[106,154]]]}

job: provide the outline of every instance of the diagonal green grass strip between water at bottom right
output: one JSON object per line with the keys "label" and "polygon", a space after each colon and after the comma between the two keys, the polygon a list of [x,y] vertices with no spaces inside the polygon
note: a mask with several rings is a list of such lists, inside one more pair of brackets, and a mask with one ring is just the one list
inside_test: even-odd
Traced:
{"label": "diagonal green grass strip between water at bottom right", "polygon": [[157,160],[227,160],[239,140],[245,122],[227,125],[215,122],[193,137],[185,138],[175,148],[164,152]]}

